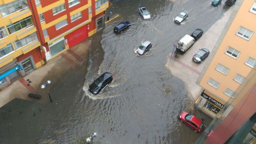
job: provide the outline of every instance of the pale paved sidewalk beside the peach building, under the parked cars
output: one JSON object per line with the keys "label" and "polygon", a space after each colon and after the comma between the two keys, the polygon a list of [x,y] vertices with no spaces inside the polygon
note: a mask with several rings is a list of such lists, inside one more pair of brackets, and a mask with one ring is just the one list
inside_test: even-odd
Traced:
{"label": "pale paved sidewalk beside the peach building, under the parked cars", "polygon": [[[174,58],[174,55],[171,57],[171,53],[167,56],[165,66],[171,70],[172,75],[186,83],[188,91],[195,100],[203,91],[203,88],[196,84],[197,78],[201,74],[204,66],[207,65],[206,63],[211,61],[211,52],[222,30],[225,28],[233,9],[234,6],[231,6],[230,9],[223,14],[221,19],[215,22],[209,30],[204,31],[203,36],[199,38],[185,54],[178,55],[178,58]],[[192,61],[193,55],[203,47],[210,50],[210,55],[202,63],[197,64]]]}

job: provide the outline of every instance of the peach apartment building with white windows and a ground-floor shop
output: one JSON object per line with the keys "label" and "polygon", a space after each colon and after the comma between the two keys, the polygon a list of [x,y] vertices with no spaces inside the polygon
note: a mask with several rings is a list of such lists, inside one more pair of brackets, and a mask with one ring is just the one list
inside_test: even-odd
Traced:
{"label": "peach apartment building with white windows and a ground-floor shop", "polygon": [[197,79],[204,91],[196,106],[211,117],[230,98],[239,93],[239,85],[256,66],[256,1],[239,1],[222,31],[207,67]]}

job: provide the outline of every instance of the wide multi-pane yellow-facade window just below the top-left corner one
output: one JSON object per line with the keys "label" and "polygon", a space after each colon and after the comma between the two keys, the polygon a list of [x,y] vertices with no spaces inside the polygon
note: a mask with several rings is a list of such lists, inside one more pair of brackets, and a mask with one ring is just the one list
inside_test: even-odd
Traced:
{"label": "wide multi-pane yellow-facade window just below the top-left corner one", "polygon": [[26,28],[33,25],[33,20],[31,17],[25,18],[23,20],[20,20],[18,22],[12,23],[10,25],[7,25],[7,29],[10,34],[15,33],[16,31]]}

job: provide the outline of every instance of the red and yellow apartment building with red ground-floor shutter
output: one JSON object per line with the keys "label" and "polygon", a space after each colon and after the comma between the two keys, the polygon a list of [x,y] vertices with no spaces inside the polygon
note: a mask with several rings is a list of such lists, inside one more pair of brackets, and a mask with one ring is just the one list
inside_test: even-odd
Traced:
{"label": "red and yellow apartment building with red ground-floor shutter", "polygon": [[0,0],[0,89],[105,25],[108,0]]}

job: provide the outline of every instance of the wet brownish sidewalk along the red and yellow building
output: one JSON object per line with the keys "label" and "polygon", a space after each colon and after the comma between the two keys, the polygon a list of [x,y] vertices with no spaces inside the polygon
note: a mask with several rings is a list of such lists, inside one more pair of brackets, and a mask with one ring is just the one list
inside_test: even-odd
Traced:
{"label": "wet brownish sidewalk along the red and yellow building", "polygon": [[[89,57],[90,38],[78,43],[71,49],[61,53],[57,58],[47,61],[46,65],[32,71],[25,77],[19,78],[11,85],[0,91],[0,108],[15,98],[29,101],[48,103],[47,90],[42,90],[41,85],[48,79],[51,80],[50,87],[55,85],[68,70],[87,62]],[[49,89],[50,89],[49,87]],[[28,97],[29,93],[42,95],[41,99]]]}

